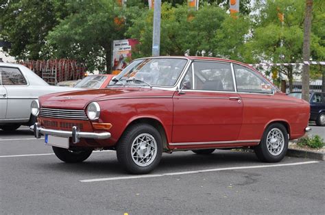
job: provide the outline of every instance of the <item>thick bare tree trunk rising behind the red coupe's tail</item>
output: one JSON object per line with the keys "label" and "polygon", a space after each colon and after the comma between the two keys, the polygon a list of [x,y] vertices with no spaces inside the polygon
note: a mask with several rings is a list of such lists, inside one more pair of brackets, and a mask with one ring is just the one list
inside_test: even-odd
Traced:
{"label": "thick bare tree trunk rising behind the red coupe's tail", "polygon": [[[309,61],[311,54],[311,18],[313,0],[306,0],[304,15],[304,45],[302,47],[302,59]],[[309,101],[309,65],[304,64],[302,70],[302,99]]]}

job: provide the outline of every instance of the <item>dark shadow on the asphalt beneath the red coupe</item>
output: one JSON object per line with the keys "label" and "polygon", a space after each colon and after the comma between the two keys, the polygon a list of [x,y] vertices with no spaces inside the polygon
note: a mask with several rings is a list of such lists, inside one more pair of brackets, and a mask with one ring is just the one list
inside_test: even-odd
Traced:
{"label": "dark shadow on the asphalt beneath the red coupe", "polygon": [[[261,164],[254,153],[243,151],[216,150],[210,155],[197,155],[195,153],[176,152],[172,155],[163,154],[160,164],[150,174],[163,174],[189,170],[202,170],[208,168],[224,168],[228,166],[245,166],[248,164]],[[51,169],[67,174],[77,174],[87,177],[117,177],[128,176],[123,170],[115,153],[106,157],[91,157],[77,164],[57,162],[39,163],[40,168]]]}

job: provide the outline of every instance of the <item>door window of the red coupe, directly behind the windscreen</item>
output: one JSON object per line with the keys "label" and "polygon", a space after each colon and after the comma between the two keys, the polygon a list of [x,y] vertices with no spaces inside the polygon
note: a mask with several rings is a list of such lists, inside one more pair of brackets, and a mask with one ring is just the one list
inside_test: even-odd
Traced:
{"label": "door window of the red coupe, directly behind the windscreen", "polygon": [[194,62],[195,90],[234,91],[230,64],[219,62]]}

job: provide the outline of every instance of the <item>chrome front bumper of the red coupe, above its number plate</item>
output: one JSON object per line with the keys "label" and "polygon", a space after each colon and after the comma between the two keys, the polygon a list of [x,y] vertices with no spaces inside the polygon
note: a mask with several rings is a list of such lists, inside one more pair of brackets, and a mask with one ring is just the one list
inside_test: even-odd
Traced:
{"label": "chrome front bumper of the red coupe, above its number plate", "polygon": [[72,138],[73,143],[79,142],[80,138],[90,138],[90,139],[108,139],[110,138],[110,132],[102,132],[102,133],[93,133],[93,132],[80,132],[76,126],[72,127],[72,131],[61,131],[61,130],[53,130],[53,129],[45,129],[40,127],[39,123],[35,123],[31,127],[29,127],[31,131],[34,131],[34,136],[36,138],[40,138],[43,134],[49,134],[52,136],[58,136],[62,138]]}

